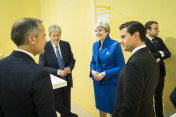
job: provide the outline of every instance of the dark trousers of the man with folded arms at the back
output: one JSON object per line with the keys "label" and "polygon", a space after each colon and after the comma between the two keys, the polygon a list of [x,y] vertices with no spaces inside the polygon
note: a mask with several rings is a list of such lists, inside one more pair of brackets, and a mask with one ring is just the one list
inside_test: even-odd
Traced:
{"label": "dark trousers of the man with folded arms at the back", "polygon": [[163,116],[163,89],[164,89],[164,76],[160,75],[158,86],[155,91],[155,112],[156,117]]}

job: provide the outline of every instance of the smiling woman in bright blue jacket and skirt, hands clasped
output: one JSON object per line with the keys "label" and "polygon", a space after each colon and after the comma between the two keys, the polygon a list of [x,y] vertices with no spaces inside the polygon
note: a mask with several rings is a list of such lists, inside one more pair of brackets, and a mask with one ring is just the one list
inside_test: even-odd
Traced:
{"label": "smiling woman in bright blue jacket and skirt, hands clasped", "polygon": [[125,65],[119,42],[109,36],[108,23],[99,22],[95,26],[99,41],[93,44],[93,55],[90,64],[90,77],[94,84],[96,108],[100,117],[112,114],[116,95],[118,74]]}

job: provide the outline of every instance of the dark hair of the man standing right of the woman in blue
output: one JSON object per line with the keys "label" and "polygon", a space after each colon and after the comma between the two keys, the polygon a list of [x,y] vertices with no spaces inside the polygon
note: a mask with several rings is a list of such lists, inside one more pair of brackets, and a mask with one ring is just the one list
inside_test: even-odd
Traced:
{"label": "dark hair of the man standing right of the woman in blue", "polygon": [[138,21],[130,21],[122,24],[119,29],[122,30],[124,28],[127,28],[127,32],[133,35],[135,32],[139,32],[139,36],[142,42],[145,41],[145,28],[142,23]]}

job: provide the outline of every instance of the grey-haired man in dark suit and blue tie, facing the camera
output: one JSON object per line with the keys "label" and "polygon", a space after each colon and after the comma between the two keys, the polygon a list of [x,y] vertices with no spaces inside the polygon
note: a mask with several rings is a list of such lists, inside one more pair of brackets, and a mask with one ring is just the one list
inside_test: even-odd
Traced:
{"label": "grey-haired man in dark suit and blue tie, facing the camera", "polygon": [[61,28],[58,25],[51,25],[48,28],[49,37],[45,45],[45,52],[39,56],[39,64],[45,67],[51,74],[67,81],[67,86],[54,90],[55,107],[62,117],[77,117],[71,110],[71,87],[72,73],[75,59],[70,44],[61,39]]}

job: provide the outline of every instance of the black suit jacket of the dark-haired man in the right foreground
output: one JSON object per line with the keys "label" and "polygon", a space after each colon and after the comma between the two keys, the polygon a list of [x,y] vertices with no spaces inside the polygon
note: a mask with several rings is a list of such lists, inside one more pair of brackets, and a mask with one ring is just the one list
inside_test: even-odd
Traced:
{"label": "black suit jacket of the dark-haired man in the right foreground", "polygon": [[119,73],[113,117],[155,117],[153,95],[159,68],[148,49],[135,52]]}

